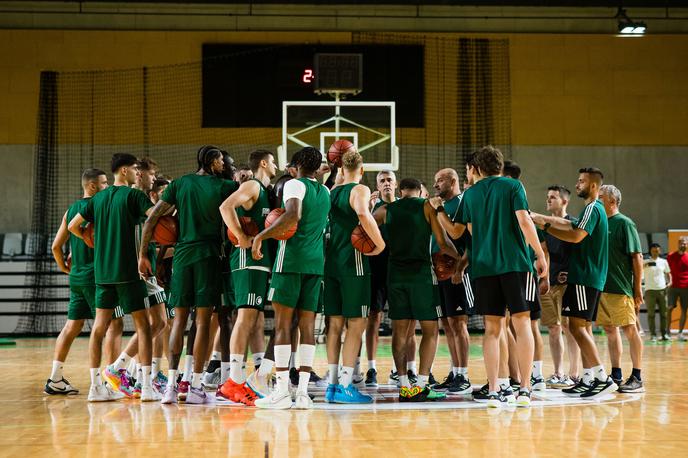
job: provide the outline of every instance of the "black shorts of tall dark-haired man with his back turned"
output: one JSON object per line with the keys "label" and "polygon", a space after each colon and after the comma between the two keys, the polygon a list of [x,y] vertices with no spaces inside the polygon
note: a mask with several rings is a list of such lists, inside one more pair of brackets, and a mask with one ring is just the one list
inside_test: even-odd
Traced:
{"label": "black shorts of tall dark-haired man with his back turned", "polygon": [[507,272],[476,278],[474,285],[477,313],[504,316],[507,309],[512,315],[530,311],[526,301],[527,275],[527,272]]}

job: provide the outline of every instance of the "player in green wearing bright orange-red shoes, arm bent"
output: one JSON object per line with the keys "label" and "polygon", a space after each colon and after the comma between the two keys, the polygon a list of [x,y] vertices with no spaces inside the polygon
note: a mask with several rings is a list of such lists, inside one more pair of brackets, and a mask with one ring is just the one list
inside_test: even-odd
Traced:
{"label": "player in green wearing bright orange-red shoes, arm bent", "polygon": [[[249,166],[253,178],[242,183],[239,190],[220,206],[222,219],[239,243],[231,255],[237,319],[230,342],[232,353],[229,360],[229,378],[220,387],[219,392],[230,401],[252,406],[256,393],[245,383],[246,378],[241,367],[249,337],[253,334],[256,322],[263,312],[272,256],[270,250],[266,250],[262,259],[253,259],[250,252],[252,236],[244,232],[239,218],[251,218],[259,231],[265,229],[265,217],[270,212],[267,187],[270,180],[275,177],[277,166],[272,153],[266,150],[252,152],[249,156]],[[259,392],[261,389],[265,390],[260,387]]]}

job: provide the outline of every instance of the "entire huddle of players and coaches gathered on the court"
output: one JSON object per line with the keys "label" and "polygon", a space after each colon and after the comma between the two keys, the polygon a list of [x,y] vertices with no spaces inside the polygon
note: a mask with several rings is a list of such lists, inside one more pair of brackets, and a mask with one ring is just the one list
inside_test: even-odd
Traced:
{"label": "entire huddle of players and coaches gathered on the court", "polygon": [[[66,211],[53,243],[58,267],[69,274],[70,303],[46,393],[78,393],[63,364],[84,321],[93,319],[89,401],[206,404],[206,390],[214,389],[216,399],[246,406],[309,409],[309,386],[317,385],[326,387],[328,403],[372,403],[385,307],[392,321],[389,382],[399,402],[456,394],[488,407],[528,407],[533,392],[546,388],[580,398],[643,391],[635,327],[640,242],[619,213],[620,191],[603,185],[599,169],[579,171],[576,193],[585,208],[574,218],[566,214],[564,186],[548,190],[551,216],[531,212],[520,168],[491,146],[466,158],[463,187],[456,170],[439,170],[434,197],[420,181],[397,182],[391,171],[377,174],[371,193],[360,183],[363,158],[353,147],[328,165],[305,147],[277,180],[266,150],[252,152],[242,169],[214,146],[202,147],[197,162],[195,173],[169,179],[149,158],[115,154],[113,186],[102,170],[83,173],[83,197]],[[267,345],[266,303],[275,313]],[[326,317],[325,380],[313,371],[318,313]],[[135,334],[120,351],[125,314]],[[487,383],[475,390],[468,377],[471,315],[485,323]],[[548,379],[540,320],[554,362]],[[451,361],[441,383],[432,374],[440,322]],[[593,322],[608,336],[610,375]],[[631,345],[626,382],[619,328]],[[249,350],[255,370],[247,373]]]}

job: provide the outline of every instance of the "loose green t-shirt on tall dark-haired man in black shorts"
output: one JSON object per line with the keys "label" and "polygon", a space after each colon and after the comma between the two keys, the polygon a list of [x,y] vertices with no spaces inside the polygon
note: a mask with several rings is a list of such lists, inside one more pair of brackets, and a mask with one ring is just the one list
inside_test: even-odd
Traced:
{"label": "loose green t-shirt on tall dark-haired man in black shorts", "polygon": [[473,278],[532,271],[518,210],[528,210],[528,201],[523,185],[513,178],[486,177],[463,193],[458,221],[472,224]]}

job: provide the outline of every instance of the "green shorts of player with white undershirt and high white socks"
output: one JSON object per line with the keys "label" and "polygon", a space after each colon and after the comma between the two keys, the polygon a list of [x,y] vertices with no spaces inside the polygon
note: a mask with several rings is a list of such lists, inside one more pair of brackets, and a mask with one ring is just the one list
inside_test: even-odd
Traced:
{"label": "green shorts of player with white undershirt and high white socks", "polygon": [[322,275],[274,272],[268,300],[316,313],[320,305]]}

